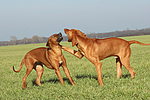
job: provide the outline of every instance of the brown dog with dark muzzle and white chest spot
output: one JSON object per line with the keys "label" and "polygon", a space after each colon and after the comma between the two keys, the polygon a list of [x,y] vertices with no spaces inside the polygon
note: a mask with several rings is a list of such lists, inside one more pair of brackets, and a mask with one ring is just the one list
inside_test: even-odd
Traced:
{"label": "brown dog with dark muzzle and white chest spot", "polygon": [[71,84],[75,85],[75,83],[73,82],[70,76],[69,70],[67,68],[66,59],[62,54],[62,50],[61,50],[62,46],[59,44],[62,39],[63,37],[61,33],[52,35],[51,37],[49,37],[47,44],[46,44],[46,46],[48,46],[49,48],[40,47],[40,48],[36,48],[36,49],[29,51],[25,55],[24,59],[22,60],[20,69],[18,71],[15,71],[14,66],[13,66],[13,70],[15,72],[19,72],[23,64],[25,64],[27,68],[26,74],[23,77],[23,85],[22,85],[23,89],[26,88],[25,81],[26,81],[27,76],[32,71],[32,69],[35,69],[37,72],[36,84],[41,86],[40,80],[44,71],[43,66],[42,66],[43,64],[47,68],[55,70],[55,73],[57,74],[61,84],[63,85],[64,82],[63,82],[63,79],[61,77],[60,70],[59,70],[59,67],[62,66]]}

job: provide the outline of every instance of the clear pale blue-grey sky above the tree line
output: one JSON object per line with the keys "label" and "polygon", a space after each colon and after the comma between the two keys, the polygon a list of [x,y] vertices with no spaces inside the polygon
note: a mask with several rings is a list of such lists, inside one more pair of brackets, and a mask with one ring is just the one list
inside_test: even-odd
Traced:
{"label": "clear pale blue-grey sky above the tree line", "polygon": [[64,28],[105,33],[150,28],[150,0],[0,0],[0,41]]}

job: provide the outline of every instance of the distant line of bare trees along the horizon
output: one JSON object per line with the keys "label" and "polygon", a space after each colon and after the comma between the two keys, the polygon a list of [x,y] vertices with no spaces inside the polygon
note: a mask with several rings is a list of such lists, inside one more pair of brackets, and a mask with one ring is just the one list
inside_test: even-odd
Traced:
{"label": "distant line of bare trees along the horizon", "polygon": [[[86,34],[90,38],[107,38],[107,37],[123,37],[123,36],[138,36],[138,35],[150,35],[150,28],[141,30],[129,30],[128,28],[124,31],[115,31],[108,33],[90,33]],[[0,41],[0,46],[7,45],[19,45],[19,44],[32,44],[32,43],[46,43],[48,37],[39,37],[34,35],[32,38],[24,37],[18,40],[16,36],[10,36],[10,41]],[[63,41],[67,41],[67,36],[63,36]]]}

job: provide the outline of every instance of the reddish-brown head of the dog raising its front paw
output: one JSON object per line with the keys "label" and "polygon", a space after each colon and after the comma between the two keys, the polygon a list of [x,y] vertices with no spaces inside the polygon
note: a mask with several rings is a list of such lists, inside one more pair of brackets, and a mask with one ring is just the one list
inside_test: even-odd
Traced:
{"label": "reddish-brown head of the dog raising its front paw", "polygon": [[72,42],[72,46],[75,46],[77,44],[77,39],[76,39],[76,36],[82,36],[82,37],[85,37],[86,35],[81,32],[80,30],[77,30],[77,29],[64,29],[65,33],[67,34],[68,36],[68,42]]}

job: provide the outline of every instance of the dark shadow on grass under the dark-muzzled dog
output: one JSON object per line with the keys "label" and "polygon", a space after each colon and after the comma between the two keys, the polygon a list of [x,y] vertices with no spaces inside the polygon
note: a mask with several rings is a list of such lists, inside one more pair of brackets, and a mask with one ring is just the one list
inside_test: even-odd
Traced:
{"label": "dark shadow on grass under the dark-muzzled dog", "polygon": [[[69,81],[68,78],[63,78],[63,80],[64,80],[64,82],[67,82],[68,84],[71,85],[71,82]],[[38,86],[38,85],[35,83],[35,81],[36,81],[36,79],[33,79],[33,80],[32,80],[33,86],[34,86],[34,85]],[[60,81],[59,81],[59,79],[57,79],[57,78],[52,78],[52,79],[50,79],[50,80],[41,81],[41,84],[44,84],[44,83],[55,83],[55,84],[57,84],[57,83],[60,83]]]}

